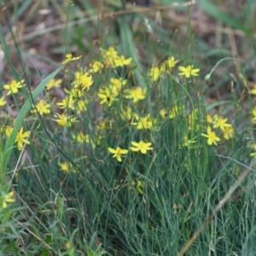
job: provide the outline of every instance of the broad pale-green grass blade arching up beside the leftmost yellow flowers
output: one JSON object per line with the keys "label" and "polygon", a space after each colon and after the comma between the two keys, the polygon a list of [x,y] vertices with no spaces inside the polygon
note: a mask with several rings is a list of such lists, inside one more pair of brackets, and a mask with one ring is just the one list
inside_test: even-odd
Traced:
{"label": "broad pale-green grass blade arching up beside the leftmost yellow flowers", "polygon": [[40,84],[38,84],[38,87],[32,91],[32,95],[31,95],[32,99],[28,98],[25,104],[23,105],[23,107],[20,109],[20,112],[15,119],[14,129],[11,135],[8,137],[3,148],[3,160],[2,160],[2,166],[0,169],[1,170],[0,175],[2,178],[4,177],[4,172],[9,163],[9,158],[15,144],[15,137],[17,135],[17,132],[20,130],[22,122],[26,116],[26,113],[30,110],[30,108],[32,108],[32,102],[34,102],[35,99],[39,96],[39,94],[44,90],[44,87],[46,86],[46,84],[49,83],[49,80],[53,79],[55,75],[61,71],[61,69],[62,69],[62,66],[58,67],[53,73],[50,73]]}

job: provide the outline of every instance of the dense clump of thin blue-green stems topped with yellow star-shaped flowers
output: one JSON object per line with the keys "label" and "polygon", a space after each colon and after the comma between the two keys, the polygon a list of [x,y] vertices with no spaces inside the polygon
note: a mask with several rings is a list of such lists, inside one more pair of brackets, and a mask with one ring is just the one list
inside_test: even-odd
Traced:
{"label": "dense clump of thin blue-green stems topped with yellow star-shaped flowers", "polygon": [[192,60],[143,70],[99,52],[86,67],[68,53],[34,90],[26,73],[3,86],[3,113],[9,96],[20,109],[1,118],[3,253],[177,255],[198,230],[188,255],[253,253],[253,106],[235,92],[206,105]]}

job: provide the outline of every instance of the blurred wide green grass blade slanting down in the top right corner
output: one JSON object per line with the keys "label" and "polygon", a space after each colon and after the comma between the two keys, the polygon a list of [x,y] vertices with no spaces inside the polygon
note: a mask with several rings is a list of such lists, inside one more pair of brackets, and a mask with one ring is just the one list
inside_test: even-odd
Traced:
{"label": "blurred wide green grass blade slanting down in the top right corner", "polygon": [[208,15],[211,15],[218,20],[224,21],[230,26],[236,27],[237,29],[248,33],[247,28],[243,26],[238,19],[231,17],[230,15],[219,9],[216,5],[210,3],[210,1],[198,0],[198,3],[200,4],[201,8],[207,12]]}

